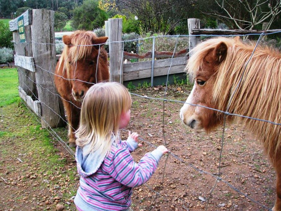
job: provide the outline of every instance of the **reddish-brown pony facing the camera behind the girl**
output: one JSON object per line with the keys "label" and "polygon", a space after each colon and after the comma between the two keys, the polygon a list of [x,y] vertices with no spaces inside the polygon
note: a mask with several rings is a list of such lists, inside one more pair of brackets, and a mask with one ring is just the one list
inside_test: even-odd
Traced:
{"label": "reddish-brown pony facing the camera behind the girl", "polygon": [[109,80],[108,57],[104,47],[107,37],[96,37],[91,31],[77,30],[64,35],[65,43],[60,61],[56,65],[55,84],[63,99],[69,123],[69,146],[75,146],[80,108],[88,89],[101,81]]}

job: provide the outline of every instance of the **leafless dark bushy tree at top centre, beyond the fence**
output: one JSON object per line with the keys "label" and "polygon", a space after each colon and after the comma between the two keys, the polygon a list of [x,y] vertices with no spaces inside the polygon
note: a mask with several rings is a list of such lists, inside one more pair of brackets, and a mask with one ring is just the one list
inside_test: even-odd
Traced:
{"label": "leafless dark bushy tree at top centre, beyond the fence", "polygon": [[[119,10],[127,17],[132,14],[140,21],[144,32],[170,34],[175,27],[188,18],[197,0],[121,0]],[[127,12],[129,11],[129,13]]]}

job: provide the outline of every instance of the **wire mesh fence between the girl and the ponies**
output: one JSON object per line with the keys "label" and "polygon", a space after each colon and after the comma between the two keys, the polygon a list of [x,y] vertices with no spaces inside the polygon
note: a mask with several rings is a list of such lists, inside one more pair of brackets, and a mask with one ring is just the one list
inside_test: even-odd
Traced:
{"label": "wire mesh fence between the girl and the ponies", "polygon": [[[281,32],[281,31],[280,31],[280,32]],[[260,206],[260,207],[262,207],[262,208],[264,208],[264,209],[266,209],[266,210],[271,210],[270,208],[268,208],[268,207],[266,207],[265,205],[261,204],[259,201],[254,200],[252,197],[249,197],[248,194],[243,193],[243,192],[240,191],[237,187],[234,187],[234,186],[231,185],[229,182],[227,182],[227,181],[224,180],[222,177],[220,177],[220,174],[221,174],[220,171],[221,171],[221,158],[222,158],[222,152],[223,152],[223,146],[224,146],[224,136],[225,136],[225,119],[226,119],[226,116],[227,116],[227,115],[238,116],[238,117],[242,117],[242,118],[254,119],[254,120],[257,120],[257,121],[263,121],[263,122],[267,122],[267,123],[274,124],[274,125],[281,125],[281,123],[272,122],[272,121],[269,121],[269,120],[266,120],[266,119],[258,119],[258,118],[253,118],[253,117],[249,117],[249,116],[243,116],[243,115],[240,115],[240,114],[234,114],[234,113],[229,113],[229,112],[228,112],[229,107],[230,107],[230,103],[231,103],[231,101],[232,101],[232,97],[233,97],[234,93],[237,91],[237,89],[238,89],[238,87],[239,87],[239,84],[241,83],[241,81],[242,81],[242,79],[243,79],[244,71],[246,70],[246,67],[247,67],[247,65],[248,65],[248,62],[251,60],[251,58],[252,58],[252,56],[253,56],[253,54],[254,54],[254,52],[255,52],[255,49],[256,49],[258,43],[259,43],[260,40],[261,40],[261,37],[264,36],[264,35],[275,34],[275,33],[280,33],[280,32],[262,33],[262,34],[250,34],[250,35],[259,35],[259,39],[258,39],[258,41],[257,41],[257,43],[256,43],[255,48],[254,48],[253,51],[252,51],[252,54],[251,54],[250,58],[248,59],[248,61],[246,62],[245,66],[244,66],[244,70],[243,70],[243,73],[242,73],[241,78],[240,78],[240,80],[239,80],[239,83],[238,83],[237,87],[235,88],[234,92],[232,93],[232,95],[231,95],[231,97],[230,97],[229,104],[228,104],[227,109],[226,109],[225,111],[217,110],[217,109],[213,109],[213,108],[209,108],[209,107],[206,107],[206,106],[201,106],[201,105],[195,105],[195,104],[187,103],[187,104],[189,104],[190,106],[199,106],[199,107],[203,107],[203,108],[206,108],[206,109],[215,110],[215,111],[217,111],[217,112],[221,112],[221,113],[224,114],[223,130],[222,130],[222,138],[221,138],[221,151],[220,151],[220,155],[219,155],[218,172],[216,173],[216,175],[215,175],[215,174],[212,174],[212,173],[209,173],[209,172],[207,172],[207,171],[204,171],[204,170],[202,170],[202,169],[199,169],[199,168],[195,167],[194,165],[192,165],[191,163],[185,162],[185,160],[181,159],[178,155],[176,155],[176,154],[173,153],[172,151],[169,151],[169,152],[168,152],[168,155],[166,156],[165,164],[164,164],[164,169],[163,169],[162,187],[163,187],[163,184],[164,184],[164,177],[165,177],[165,170],[166,170],[167,160],[168,160],[169,156],[172,156],[173,158],[177,159],[178,161],[180,161],[181,163],[185,164],[186,166],[188,166],[188,167],[190,167],[190,168],[193,168],[195,171],[198,171],[200,174],[207,174],[207,175],[209,175],[209,176],[211,176],[211,177],[214,177],[214,178],[216,179],[215,184],[214,184],[214,186],[212,187],[212,189],[211,189],[211,191],[210,191],[210,193],[209,193],[209,197],[207,198],[207,201],[206,201],[206,208],[205,208],[206,210],[208,209],[208,202],[209,202],[209,199],[212,197],[212,193],[213,193],[213,191],[214,191],[214,189],[215,189],[215,187],[216,187],[217,182],[224,182],[224,183],[225,183],[227,186],[229,186],[232,190],[238,192],[238,193],[241,194],[241,195],[244,195],[248,200],[251,200],[253,203],[257,204],[258,206]],[[235,35],[235,36],[248,36],[248,35],[249,35],[249,34],[247,34],[247,35]],[[177,47],[177,43],[178,43],[179,37],[191,37],[191,36],[215,37],[215,36],[218,36],[218,35],[177,35],[177,36],[156,36],[156,37],[150,37],[150,38],[133,39],[133,40],[129,40],[129,41],[122,41],[122,45],[123,45],[123,46],[122,46],[122,47],[123,47],[123,50],[122,50],[122,51],[124,52],[124,42],[132,42],[132,41],[137,41],[137,40],[142,40],[142,41],[144,41],[144,40],[146,40],[146,39],[152,39],[152,38],[155,39],[155,38],[159,38],[159,37],[174,37],[174,38],[176,38],[176,44],[175,44],[174,51],[173,51],[173,54],[172,54],[172,57],[171,57],[171,58],[174,58],[174,55],[175,55],[175,53],[176,53],[176,47]],[[234,36],[234,35],[219,35],[219,36],[229,37],[229,36]],[[34,43],[35,45],[36,45],[36,44],[48,44],[48,45],[50,45],[50,44],[52,45],[52,44],[53,44],[53,43],[36,43],[36,42],[34,42],[34,41],[32,41],[32,42],[30,42],[30,43]],[[118,43],[118,42],[112,42],[112,43]],[[17,43],[15,43],[15,44],[17,44]],[[29,43],[27,43],[27,44],[28,44],[28,46],[29,46]],[[107,43],[107,44],[108,44],[108,43]],[[81,46],[83,46],[83,45],[81,45]],[[100,44],[99,44],[99,46],[100,46]],[[123,54],[122,54],[122,55],[123,55]],[[99,57],[99,54],[98,54],[98,57]],[[122,57],[122,60],[123,60],[123,57]],[[98,60],[97,60],[97,61],[98,61]],[[24,61],[21,61],[21,62],[24,63]],[[155,98],[155,97],[141,96],[141,95],[139,95],[139,94],[130,92],[131,95],[134,95],[134,96],[136,96],[136,97],[141,97],[141,98],[145,98],[145,99],[153,99],[153,100],[157,100],[157,101],[163,101],[162,133],[163,133],[164,144],[165,144],[166,147],[167,147],[167,142],[166,142],[166,137],[165,137],[165,132],[164,132],[164,128],[165,128],[165,123],[164,123],[164,122],[165,122],[165,102],[171,101],[171,102],[177,102],[177,103],[182,103],[182,104],[185,104],[185,103],[186,103],[186,102],[184,102],[184,101],[177,101],[177,100],[166,99],[166,93],[167,93],[167,88],[168,88],[168,76],[169,76],[169,73],[170,73],[170,69],[171,69],[171,67],[172,67],[172,62],[173,62],[173,59],[171,59],[171,64],[170,64],[170,67],[169,67],[168,72],[167,72],[167,80],[166,80],[166,86],[165,86],[165,91],[164,91],[164,97],[163,97],[163,98]],[[121,64],[121,67],[122,67],[122,65],[123,65],[123,64]],[[49,70],[45,70],[44,68],[42,68],[42,67],[40,67],[40,66],[38,66],[38,65],[36,65],[36,64],[35,64],[35,66],[38,67],[38,68],[40,68],[41,71],[47,71],[50,77],[51,77],[51,75],[57,75],[57,74],[55,74],[55,73],[53,73],[53,72],[51,71],[51,66],[50,66]],[[120,68],[121,68],[121,67],[120,67]],[[77,69],[77,68],[75,68],[75,71],[76,71],[76,69]],[[48,88],[42,87],[42,85],[36,83],[36,81],[32,80],[21,68],[17,68],[17,70],[18,70],[18,72],[20,72],[21,74],[23,74],[26,78],[28,78],[32,83],[36,84],[36,86],[39,86],[39,87],[41,87],[42,89],[46,89],[48,92],[50,92],[50,93],[53,94],[54,96],[60,97],[60,99],[63,100],[63,101],[67,101],[67,100],[63,99],[60,95],[58,95],[58,94],[56,94],[56,93],[53,93],[53,92],[51,92],[50,90],[48,90]],[[121,69],[120,69],[120,70],[121,70]],[[119,73],[120,73],[120,71],[119,71]],[[97,74],[97,69],[96,69],[96,74]],[[57,76],[58,76],[58,75],[57,75]],[[60,76],[60,77],[62,77],[62,76]],[[63,78],[63,77],[62,77],[62,78]],[[79,79],[66,79],[66,78],[63,78],[63,79],[69,80],[69,81],[71,81],[71,80],[78,80],[78,81],[81,81],[81,82],[84,82],[84,83],[89,83],[89,82],[87,82],[87,81],[83,81],[83,80],[79,80]],[[19,83],[23,83],[26,87],[28,87],[28,85],[25,84],[23,81],[19,81]],[[97,83],[97,81],[96,81],[96,83]],[[95,83],[90,83],[90,84],[93,85],[93,84],[95,84]],[[53,86],[54,86],[54,84],[53,84]],[[29,89],[29,91],[32,92],[31,89]],[[38,99],[38,97],[36,97],[36,93],[33,93],[33,97],[35,97],[36,100],[40,101],[40,100]],[[23,102],[23,104],[27,107],[27,109],[28,109],[29,111],[31,111],[31,110],[29,109],[29,107],[27,106],[26,102],[23,101],[23,100],[22,100],[22,102]],[[74,103],[72,103],[71,101],[68,101],[68,102],[71,103],[71,105],[76,106],[76,105],[75,105]],[[42,102],[40,101],[40,103],[42,103]],[[44,103],[43,103],[43,104],[44,104]],[[44,104],[44,105],[47,106],[46,104]],[[49,108],[50,111],[52,111],[52,112],[54,112],[56,115],[58,115],[59,118],[62,119],[69,127],[71,127],[71,125],[70,125],[67,121],[65,121],[64,118],[62,118],[62,117],[60,116],[60,114],[58,114],[57,112],[55,112],[55,111],[54,111],[52,108],[50,108],[49,106],[47,106],[47,107]],[[76,107],[77,107],[78,109],[81,109],[81,108],[79,108],[78,106],[76,106]],[[32,111],[31,111],[31,112],[32,112]],[[32,112],[32,113],[33,113],[33,112]],[[37,116],[36,116],[34,113],[33,113],[33,115],[34,115],[34,116],[36,117],[36,119],[38,120]],[[39,117],[41,118],[41,120],[43,120],[43,121],[48,125],[48,122],[47,122],[46,119],[44,119],[41,115],[39,115]],[[41,123],[39,120],[38,120],[38,122]],[[49,125],[48,125],[48,126],[49,126]],[[67,150],[67,151],[69,152],[70,155],[73,155],[73,156],[75,155],[74,151],[67,145],[67,142],[64,141],[51,127],[46,127],[46,129],[47,129],[47,130],[50,132],[50,134],[65,148],[65,150]],[[74,129],[74,128],[73,128],[73,129]],[[127,131],[127,130],[125,130],[125,131]],[[146,140],[144,140],[144,139],[141,138],[141,137],[139,137],[139,139],[140,139],[141,141],[145,142],[148,146],[151,146],[151,147],[153,147],[153,148],[156,148],[156,146],[155,146],[154,144],[150,143],[149,141],[146,141]],[[156,200],[157,200],[158,197],[161,197],[161,198],[163,198],[163,199],[165,199],[165,200],[168,200],[167,197],[162,196],[160,192],[155,191],[155,190],[154,190],[151,186],[149,186],[148,184],[145,184],[145,186],[147,186],[147,188],[148,188],[150,191],[152,191],[152,192],[155,193],[154,200],[153,200],[153,202],[151,203],[151,205],[150,205],[150,207],[149,207],[149,210],[152,210],[152,209],[155,208],[154,204],[155,204],[155,202],[156,202]],[[181,199],[179,199],[179,200],[181,200]],[[185,204],[185,203],[184,203],[184,204]],[[185,207],[184,204],[182,205],[182,208],[185,209],[185,210],[189,210],[189,208]]]}

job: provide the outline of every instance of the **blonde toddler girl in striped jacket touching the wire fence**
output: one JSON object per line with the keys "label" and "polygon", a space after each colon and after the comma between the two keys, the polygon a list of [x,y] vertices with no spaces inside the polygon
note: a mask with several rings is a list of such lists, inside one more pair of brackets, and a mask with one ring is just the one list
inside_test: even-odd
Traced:
{"label": "blonde toddler girl in striped jacket touching the wire fence", "polygon": [[93,85],[85,96],[76,131],[76,161],[80,186],[74,199],[78,210],[128,210],[132,187],[143,185],[168,150],[165,146],[146,153],[135,163],[138,134],[129,132],[121,141],[119,129],[130,121],[132,99],[120,83]]}

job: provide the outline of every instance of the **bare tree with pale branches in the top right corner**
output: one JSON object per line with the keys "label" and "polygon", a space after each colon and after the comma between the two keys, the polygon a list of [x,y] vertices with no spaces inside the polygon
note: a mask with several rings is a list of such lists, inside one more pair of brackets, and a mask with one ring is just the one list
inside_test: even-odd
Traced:
{"label": "bare tree with pale branches in the top right corner", "polygon": [[[256,29],[263,22],[268,22],[265,30],[281,13],[281,0],[215,0],[217,7],[205,11],[206,14],[223,20],[230,28]],[[210,5],[210,4],[209,4]]]}

